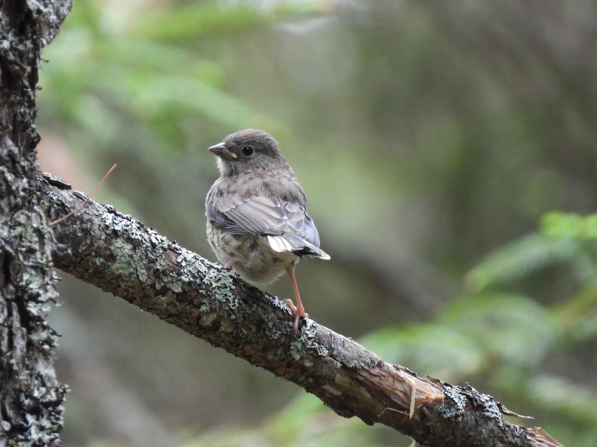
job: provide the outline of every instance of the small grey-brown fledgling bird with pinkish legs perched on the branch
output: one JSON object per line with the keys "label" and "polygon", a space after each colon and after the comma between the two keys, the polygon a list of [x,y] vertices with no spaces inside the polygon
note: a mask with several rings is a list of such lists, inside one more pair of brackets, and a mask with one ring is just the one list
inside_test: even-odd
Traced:
{"label": "small grey-brown fledgling bird with pinkish legs perched on the branch", "polygon": [[286,271],[298,320],[308,318],[294,266],[302,256],[330,259],[319,249],[319,234],[307,212],[307,197],[278,142],[266,132],[246,129],[209,148],[220,178],[205,200],[207,240],[218,260],[248,283],[271,283]]}

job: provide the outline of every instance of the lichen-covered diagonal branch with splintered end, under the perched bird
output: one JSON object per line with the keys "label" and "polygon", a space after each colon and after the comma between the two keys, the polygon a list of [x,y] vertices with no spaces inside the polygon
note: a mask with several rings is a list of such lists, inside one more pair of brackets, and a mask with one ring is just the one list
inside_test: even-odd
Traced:
{"label": "lichen-covered diagonal branch with splintered end, under the perched bird", "polygon": [[[37,190],[51,220],[85,198],[42,179]],[[297,336],[276,297],[111,206],[89,200],[53,229],[57,267],[293,381],[343,417],[385,424],[430,446],[560,445],[538,427],[504,421],[515,414],[491,396],[387,364],[310,319]]]}

